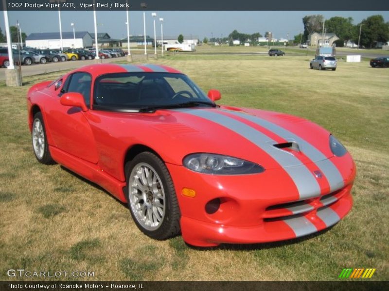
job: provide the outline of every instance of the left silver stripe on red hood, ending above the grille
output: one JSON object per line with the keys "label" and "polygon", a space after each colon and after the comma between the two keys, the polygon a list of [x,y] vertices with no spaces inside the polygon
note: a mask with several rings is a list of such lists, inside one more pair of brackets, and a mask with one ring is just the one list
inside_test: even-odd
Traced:
{"label": "left silver stripe on red hood, ending above the grille", "polygon": [[217,123],[241,135],[254,145],[264,150],[269,156],[276,160],[283,167],[290,178],[292,178],[299,191],[300,199],[317,197],[320,194],[320,186],[318,181],[314,178],[307,167],[292,154],[271,146],[269,141],[271,144],[275,144],[276,141],[272,140],[264,133],[244,124],[243,122],[223,114],[201,109],[181,109],[179,111],[202,117]]}

